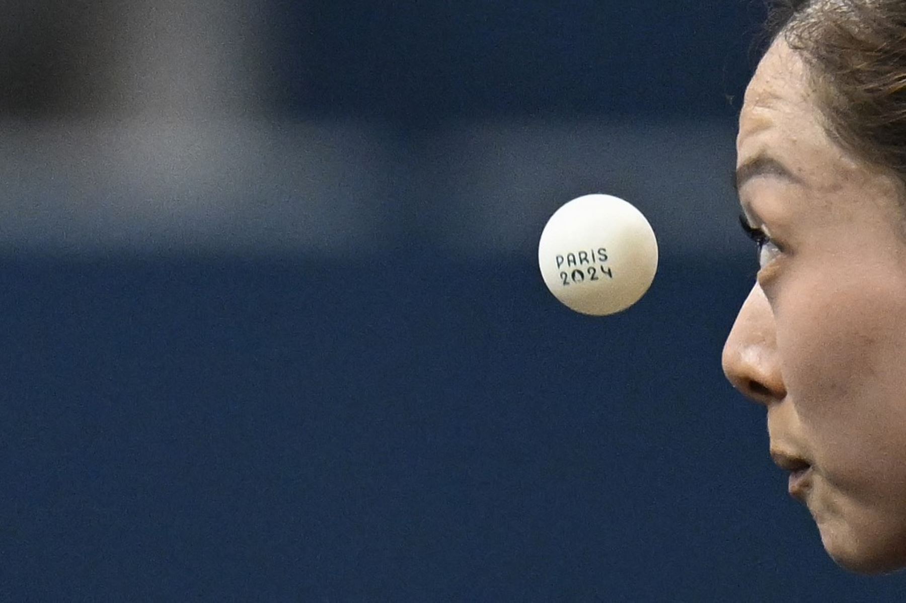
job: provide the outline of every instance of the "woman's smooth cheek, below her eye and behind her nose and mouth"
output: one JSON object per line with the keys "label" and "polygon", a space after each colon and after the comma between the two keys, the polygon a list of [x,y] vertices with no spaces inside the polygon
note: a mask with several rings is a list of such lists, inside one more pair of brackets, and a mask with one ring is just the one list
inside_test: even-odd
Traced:
{"label": "woman's smooth cheek, below her eye and behind her nose and mouth", "polygon": [[776,303],[781,370],[802,435],[842,490],[904,493],[906,291],[881,270],[810,274]]}

